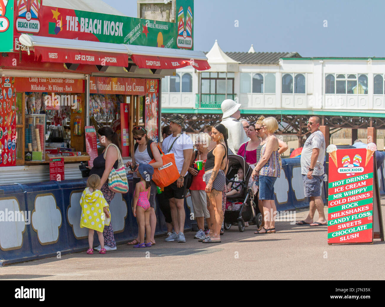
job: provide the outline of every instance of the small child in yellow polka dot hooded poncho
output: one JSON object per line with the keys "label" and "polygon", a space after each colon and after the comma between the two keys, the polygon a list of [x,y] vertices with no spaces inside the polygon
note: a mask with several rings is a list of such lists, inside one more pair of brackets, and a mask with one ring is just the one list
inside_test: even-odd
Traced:
{"label": "small child in yellow polka dot hooded poncho", "polygon": [[80,228],[86,227],[88,231],[89,250],[87,254],[93,254],[94,230],[97,231],[100,246],[99,253],[105,254],[103,229],[110,224],[109,205],[104,199],[103,193],[97,189],[100,185],[100,177],[96,174],[90,175],[87,187],[80,198],[82,215],[80,217]]}

